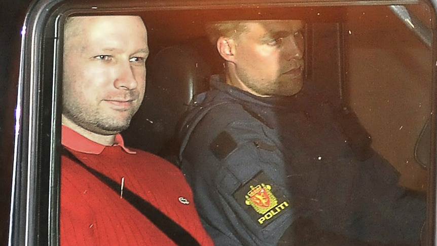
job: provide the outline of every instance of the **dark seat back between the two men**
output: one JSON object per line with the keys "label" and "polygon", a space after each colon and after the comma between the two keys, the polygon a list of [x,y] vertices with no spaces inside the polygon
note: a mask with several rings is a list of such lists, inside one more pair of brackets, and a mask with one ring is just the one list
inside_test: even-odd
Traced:
{"label": "dark seat back between the two men", "polygon": [[209,89],[209,77],[220,66],[214,52],[206,38],[199,38],[151,57],[143,103],[122,133],[127,146],[161,156],[177,148],[173,142],[177,122],[193,96]]}

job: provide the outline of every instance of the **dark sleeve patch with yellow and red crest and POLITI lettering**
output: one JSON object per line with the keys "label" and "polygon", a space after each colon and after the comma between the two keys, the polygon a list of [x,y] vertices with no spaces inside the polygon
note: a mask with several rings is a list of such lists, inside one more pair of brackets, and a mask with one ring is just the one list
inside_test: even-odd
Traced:
{"label": "dark sleeve patch with yellow and red crest and POLITI lettering", "polygon": [[238,204],[261,227],[266,227],[290,209],[290,203],[263,171],[233,194]]}

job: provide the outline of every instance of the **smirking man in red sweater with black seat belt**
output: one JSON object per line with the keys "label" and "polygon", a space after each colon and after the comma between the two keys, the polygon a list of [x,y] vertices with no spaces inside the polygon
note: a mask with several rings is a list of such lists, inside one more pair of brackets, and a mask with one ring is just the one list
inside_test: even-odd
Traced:
{"label": "smirking man in red sweater with black seat belt", "polygon": [[212,245],[183,174],[128,149],[119,134],[145,88],[147,31],[137,16],[65,23],[60,242]]}

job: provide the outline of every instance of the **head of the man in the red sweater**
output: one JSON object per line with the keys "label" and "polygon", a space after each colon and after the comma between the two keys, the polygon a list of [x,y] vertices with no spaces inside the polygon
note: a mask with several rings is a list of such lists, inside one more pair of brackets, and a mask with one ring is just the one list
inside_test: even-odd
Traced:
{"label": "head of the man in the red sweater", "polygon": [[72,18],[65,28],[62,114],[91,132],[118,133],[144,95],[145,26],[136,16]]}

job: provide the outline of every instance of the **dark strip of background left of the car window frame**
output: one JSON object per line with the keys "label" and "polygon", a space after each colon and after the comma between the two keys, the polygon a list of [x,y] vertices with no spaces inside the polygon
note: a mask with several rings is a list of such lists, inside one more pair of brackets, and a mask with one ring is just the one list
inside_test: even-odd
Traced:
{"label": "dark strip of background left of the car window frame", "polygon": [[30,0],[0,1],[0,245],[7,245],[20,30]]}

